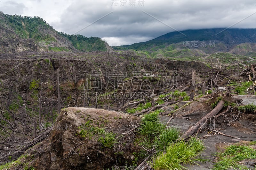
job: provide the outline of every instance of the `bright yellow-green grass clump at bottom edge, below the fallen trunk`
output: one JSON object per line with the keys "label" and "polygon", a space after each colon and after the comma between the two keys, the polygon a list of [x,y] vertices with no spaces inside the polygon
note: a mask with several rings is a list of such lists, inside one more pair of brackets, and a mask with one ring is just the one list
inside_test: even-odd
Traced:
{"label": "bright yellow-green grass clump at bottom edge, below the fallen trunk", "polygon": [[192,137],[188,142],[180,140],[170,144],[165,152],[161,152],[153,161],[152,166],[156,170],[182,170],[184,167],[181,164],[206,161],[205,159],[196,159],[198,152],[203,149],[202,142],[196,138]]}

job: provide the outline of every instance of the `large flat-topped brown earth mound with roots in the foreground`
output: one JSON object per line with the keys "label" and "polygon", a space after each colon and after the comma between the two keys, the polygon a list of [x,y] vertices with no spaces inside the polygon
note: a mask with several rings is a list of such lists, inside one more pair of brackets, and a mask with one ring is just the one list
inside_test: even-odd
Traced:
{"label": "large flat-topped brown earth mound with roots in the foreground", "polygon": [[[36,169],[102,170],[116,162],[129,164],[138,150],[132,129],[139,124],[140,117],[114,111],[62,109],[49,139],[40,146],[41,155],[30,165]],[[108,135],[114,136],[113,143],[107,141]]]}

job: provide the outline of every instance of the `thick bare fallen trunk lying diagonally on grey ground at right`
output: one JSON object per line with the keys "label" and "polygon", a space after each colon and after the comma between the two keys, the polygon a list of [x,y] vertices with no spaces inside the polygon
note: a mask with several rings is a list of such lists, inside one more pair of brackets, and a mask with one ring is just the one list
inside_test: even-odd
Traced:
{"label": "thick bare fallen trunk lying diagonally on grey ground at right", "polygon": [[198,121],[194,126],[192,126],[191,128],[189,128],[181,137],[180,139],[184,139],[186,137],[192,136],[200,126],[202,126],[204,124],[205,121],[207,121],[208,118],[210,118],[211,116],[217,115],[220,110],[222,109],[222,107],[224,106],[224,101],[220,100],[218,105],[211,111],[209,112],[207,115],[205,115],[204,117],[202,117],[202,119],[200,119],[200,121]]}

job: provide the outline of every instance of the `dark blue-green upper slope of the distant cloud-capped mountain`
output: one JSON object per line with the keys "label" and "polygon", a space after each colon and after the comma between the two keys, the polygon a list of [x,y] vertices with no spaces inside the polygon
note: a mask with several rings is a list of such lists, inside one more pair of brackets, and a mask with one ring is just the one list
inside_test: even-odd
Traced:
{"label": "dark blue-green upper slope of the distant cloud-capped mountain", "polygon": [[253,42],[256,43],[256,29],[237,29],[237,28],[213,28],[186,30],[181,32],[171,32],[157,37],[153,40],[114,47],[115,49],[135,49],[150,50],[152,47],[163,48],[170,44],[183,41],[216,41],[225,44],[227,47],[234,45]]}

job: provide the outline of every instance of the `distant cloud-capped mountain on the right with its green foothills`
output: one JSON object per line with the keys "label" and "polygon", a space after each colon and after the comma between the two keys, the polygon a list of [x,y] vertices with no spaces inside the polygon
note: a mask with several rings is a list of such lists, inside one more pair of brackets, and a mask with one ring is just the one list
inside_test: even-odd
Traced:
{"label": "distant cloud-capped mountain on the right with its green foothills", "polygon": [[212,28],[171,32],[150,41],[113,48],[135,50],[155,58],[179,59],[216,53],[256,56],[255,43],[256,29]]}

